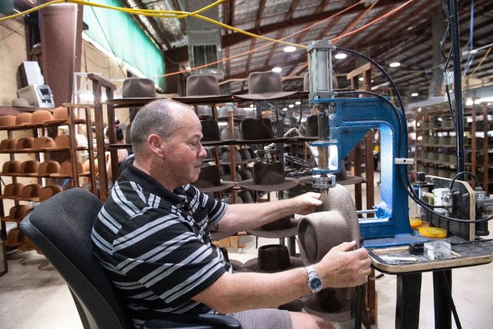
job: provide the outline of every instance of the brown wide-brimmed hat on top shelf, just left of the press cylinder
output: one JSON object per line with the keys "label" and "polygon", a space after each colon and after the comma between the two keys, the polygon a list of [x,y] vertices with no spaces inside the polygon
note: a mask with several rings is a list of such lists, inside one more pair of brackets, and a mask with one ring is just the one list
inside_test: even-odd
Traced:
{"label": "brown wide-brimmed hat on top shelf, just left of the press cylinder", "polygon": [[283,92],[280,73],[252,72],[248,75],[248,94],[235,95],[241,99],[263,100],[280,99],[297,92]]}

